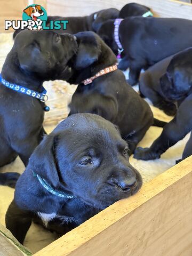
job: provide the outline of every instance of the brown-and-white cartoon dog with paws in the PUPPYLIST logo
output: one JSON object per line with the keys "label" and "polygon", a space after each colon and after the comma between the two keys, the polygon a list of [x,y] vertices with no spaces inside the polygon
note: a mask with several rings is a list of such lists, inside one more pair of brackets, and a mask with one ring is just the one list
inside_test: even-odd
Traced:
{"label": "brown-and-white cartoon dog with paws in the PUPPYLIST logo", "polygon": [[[23,12],[25,12],[29,17],[31,17],[31,20],[28,21],[41,21],[40,19],[38,19],[38,17],[42,16],[44,14],[43,10],[41,9],[41,5],[35,5],[35,6],[29,6],[27,7],[25,10],[23,10]],[[37,29],[40,30],[42,29],[42,26],[38,26],[38,28],[33,27],[31,25],[29,25],[27,27],[29,30],[32,29]]]}

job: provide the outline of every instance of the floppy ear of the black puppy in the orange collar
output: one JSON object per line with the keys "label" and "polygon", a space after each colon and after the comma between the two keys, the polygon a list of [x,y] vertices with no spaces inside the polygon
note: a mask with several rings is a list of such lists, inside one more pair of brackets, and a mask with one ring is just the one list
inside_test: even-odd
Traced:
{"label": "floppy ear of the black puppy in the orange collar", "polygon": [[81,42],[75,60],[75,69],[83,69],[98,60],[100,50],[98,45]]}

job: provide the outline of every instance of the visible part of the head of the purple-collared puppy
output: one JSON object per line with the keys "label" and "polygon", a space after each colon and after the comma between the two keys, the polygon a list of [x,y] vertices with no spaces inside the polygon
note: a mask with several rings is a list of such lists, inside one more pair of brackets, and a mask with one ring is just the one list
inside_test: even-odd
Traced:
{"label": "visible part of the head of the purple-collared puppy", "polygon": [[110,47],[110,49],[117,55],[118,46],[115,43],[114,39],[114,20],[108,20],[103,22],[100,29],[98,30],[98,35],[102,38],[102,40]]}

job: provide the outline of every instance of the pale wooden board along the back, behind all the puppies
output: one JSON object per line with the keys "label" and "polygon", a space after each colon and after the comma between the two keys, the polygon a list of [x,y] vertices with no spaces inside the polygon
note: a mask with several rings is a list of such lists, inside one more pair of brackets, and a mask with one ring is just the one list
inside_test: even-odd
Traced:
{"label": "pale wooden board along the back, behind all the puppies", "polygon": [[79,4],[79,0],[47,0],[47,13],[49,15],[61,15],[64,17],[82,16],[109,7],[121,9],[129,2],[145,4],[153,9],[154,13],[159,17],[192,19],[191,4],[170,0],[83,0],[81,4]]}

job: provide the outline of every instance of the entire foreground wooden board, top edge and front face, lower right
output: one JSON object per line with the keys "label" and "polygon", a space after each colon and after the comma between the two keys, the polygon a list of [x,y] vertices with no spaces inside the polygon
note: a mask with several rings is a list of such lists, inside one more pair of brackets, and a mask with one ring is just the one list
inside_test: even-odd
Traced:
{"label": "entire foreground wooden board, top edge and front face, lower right", "polygon": [[34,256],[191,256],[192,156]]}

